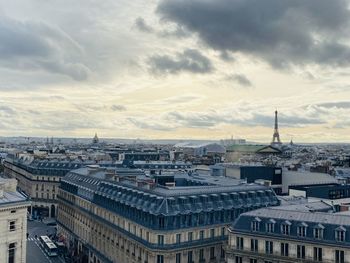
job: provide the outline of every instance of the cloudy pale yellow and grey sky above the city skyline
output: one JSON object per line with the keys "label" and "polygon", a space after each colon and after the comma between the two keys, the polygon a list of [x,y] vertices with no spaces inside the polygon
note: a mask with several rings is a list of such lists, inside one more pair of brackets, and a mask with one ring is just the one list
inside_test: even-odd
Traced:
{"label": "cloudy pale yellow and grey sky above the city skyline", "polygon": [[350,142],[348,0],[0,0],[0,136]]}

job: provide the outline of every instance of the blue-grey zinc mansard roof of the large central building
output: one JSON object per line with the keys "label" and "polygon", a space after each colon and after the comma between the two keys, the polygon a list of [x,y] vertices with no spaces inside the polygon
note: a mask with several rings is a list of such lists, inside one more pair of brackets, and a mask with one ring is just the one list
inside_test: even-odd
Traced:
{"label": "blue-grey zinc mansard roof of the large central building", "polygon": [[[274,192],[265,186],[256,184],[227,185],[227,179],[212,178],[202,182],[205,184],[190,186],[166,187],[149,184],[148,188],[141,186],[143,182],[151,181],[148,177],[138,177],[141,180],[112,181],[106,179],[104,171],[95,171],[87,175],[86,168],[72,171],[62,180],[62,188],[69,190],[69,185],[77,189],[77,194],[92,202],[108,205],[134,207],[154,215],[178,215],[200,212],[215,212],[232,208],[257,208],[277,205],[278,199]],[[182,180],[199,180],[191,176],[179,176]],[[216,184],[214,184],[214,182]]]}

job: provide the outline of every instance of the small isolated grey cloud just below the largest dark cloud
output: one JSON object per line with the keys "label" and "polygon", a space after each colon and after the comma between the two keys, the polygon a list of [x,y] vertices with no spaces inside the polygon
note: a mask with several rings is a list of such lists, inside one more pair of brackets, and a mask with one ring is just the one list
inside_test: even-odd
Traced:
{"label": "small isolated grey cloud just below the largest dark cloud", "polygon": [[174,57],[155,55],[149,59],[149,63],[155,74],[177,74],[184,71],[209,73],[213,70],[211,61],[195,49],[186,49]]}

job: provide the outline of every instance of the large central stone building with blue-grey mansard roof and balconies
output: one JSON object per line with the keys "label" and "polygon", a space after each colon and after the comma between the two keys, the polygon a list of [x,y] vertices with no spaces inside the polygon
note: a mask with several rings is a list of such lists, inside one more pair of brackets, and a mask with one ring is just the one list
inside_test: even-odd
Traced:
{"label": "large central stone building with blue-grey mansard roof and balconies", "polygon": [[186,174],[165,186],[117,174],[88,167],[62,179],[60,238],[82,262],[225,262],[226,226],[278,205],[270,188],[233,179]]}

